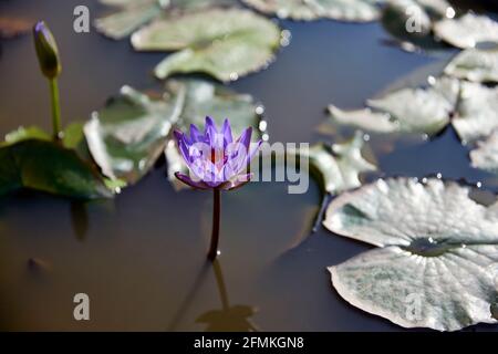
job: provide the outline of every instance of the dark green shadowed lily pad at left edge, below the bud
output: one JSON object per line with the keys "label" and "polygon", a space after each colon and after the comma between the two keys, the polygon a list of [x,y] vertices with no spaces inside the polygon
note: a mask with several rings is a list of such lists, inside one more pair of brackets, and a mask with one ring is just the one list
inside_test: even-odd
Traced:
{"label": "dark green shadowed lily pad at left edge, below the bud", "polygon": [[64,197],[113,196],[104,180],[74,150],[42,139],[0,147],[0,195],[28,188]]}

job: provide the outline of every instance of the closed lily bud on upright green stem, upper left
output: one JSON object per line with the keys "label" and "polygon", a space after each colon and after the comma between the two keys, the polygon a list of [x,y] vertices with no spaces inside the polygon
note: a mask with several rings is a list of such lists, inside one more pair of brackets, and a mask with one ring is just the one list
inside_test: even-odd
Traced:
{"label": "closed lily bud on upright green stem, upper left", "polygon": [[55,79],[61,73],[58,44],[45,22],[40,21],[33,28],[34,48],[40,69],[48,79]]}

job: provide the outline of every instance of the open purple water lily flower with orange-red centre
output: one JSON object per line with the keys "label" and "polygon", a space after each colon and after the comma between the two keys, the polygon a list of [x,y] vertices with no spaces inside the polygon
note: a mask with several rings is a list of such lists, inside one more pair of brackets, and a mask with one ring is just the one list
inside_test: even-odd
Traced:
{"label": "open purple water lily flower with orange-red centre", "polygon": [[206,117],[204,134],[190,125],[190,136],[175,131],[179,150],[189,169],[189,176],[176,173],[186,185],[197,189],[238,188],[251,178],[248,166],[258,152],[261,140],[251,144],[252,128],[248,127],[235,140],[228,119],[220,131],[210,117]]}

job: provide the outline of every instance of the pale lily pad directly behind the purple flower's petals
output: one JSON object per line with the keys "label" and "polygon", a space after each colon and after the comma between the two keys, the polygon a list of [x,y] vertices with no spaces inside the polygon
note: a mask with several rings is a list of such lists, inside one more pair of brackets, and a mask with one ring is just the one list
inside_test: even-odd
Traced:
{"label": "pale lily pad directly behind the purple flower's petals", "polygon": [[[252,140],[261,137],[259,125],[261,114],[252,96],[236,93],[220,84],[215,84],[204,80],[170,80],[166,83],[166,92],[169,95],[185,93],[185,100],[175,127],[188,132],[190,124],[204,127],[206,116],[215,119],[221,126],[225,118],[230,119],[231,129],[235,136],[239,136],[248,126],[253,127]],[[175,140],[168,140],[165,149],[168,163],[168,178],[178,190],[185,187],[175,177],[176,171],[187,173],[183,157],[178,152]]]}

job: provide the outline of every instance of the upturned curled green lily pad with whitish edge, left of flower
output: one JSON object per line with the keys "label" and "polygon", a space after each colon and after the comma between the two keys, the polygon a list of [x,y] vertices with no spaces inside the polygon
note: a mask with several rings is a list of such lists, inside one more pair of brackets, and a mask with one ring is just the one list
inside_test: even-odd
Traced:
{"label": "upturned curled green lily pad with whitish edge, left of flower", "polygon": [[84,126],[86,142],[102,173],[111,179],[135,184],[164,152],[166,137],[178,119],[184,92],[152,98],[129,86],[92,114]]}

